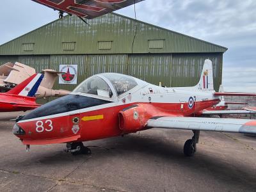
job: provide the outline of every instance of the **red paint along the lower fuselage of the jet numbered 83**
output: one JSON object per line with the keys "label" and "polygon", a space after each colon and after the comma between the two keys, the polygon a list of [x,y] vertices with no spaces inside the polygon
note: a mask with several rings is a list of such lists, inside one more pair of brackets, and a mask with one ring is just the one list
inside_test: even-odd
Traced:
{"label": "red paint along the lower fuselage of the jet numbered 83", "polygon": [[[205,109],[209,106],[217,104],[219,102],[216,100],[207,100],[205,102],[196,102],[196,108],[189,108],[189,104],[187,103],[140,103],[145,111],[148,111],[147,118],[151,118],[152,116],[190,116],[195,111]],[[111,108],[102,108],[94,111],[81,112],[72,115],[66,116],[58,116],[55,118],[49,118],[52,121],[52,126],[54,129],[51,132],[36,132],[36,122],[38,120],[32,120],[29,122],[20,122],[19,125],[24,129],[25,132],[30,132],[30,134],[20,135],[19,138],[23,140],[45,140],[45,142],[51,143],[51,140],[58,141],[56,139],[59,138],[70,138],[74,136],[72,132],[72,127],[76,124],[72,121],[73,118],[77,117],[80,119],[79,121],[79,132],[77,134],[81,135],[77,141],[90,141],[90,140],[99,140],[102,138],[109,138],[112,136],[120,136],[122,134],[127,134],[129,132],[124,132],[118,127],[118,112],[124,108],[127,108],[133,104],[124,104],[121,106],[113,106]],[[182,110],[181,110],[181,106]],[[90,120],[83,121],[81,120],[84,116],[95,116],[102,115],[104,118],[98,120]],[[140,114],[139,114],[140,115]],[[143,114],[142,114],[143,115]],[[45,128],[47,127],[47,123],[45,123],[47,119],[42,120],[42,124],[44,124]],[[63,127],[65,124],[65,127]],[[145,128],[143,128],[145,129]],[[137,130],[141,131],[143,129]],[[134,131],[135,132],[135,131]],[[60,140],[61,141],[61,140]],[[43,142],[45,144],[45,142]],[[33,143],[33,142],[32,142]],[[36,141],[34,143],[37,143]],[[40,142],[38,142],[39,144]]]}

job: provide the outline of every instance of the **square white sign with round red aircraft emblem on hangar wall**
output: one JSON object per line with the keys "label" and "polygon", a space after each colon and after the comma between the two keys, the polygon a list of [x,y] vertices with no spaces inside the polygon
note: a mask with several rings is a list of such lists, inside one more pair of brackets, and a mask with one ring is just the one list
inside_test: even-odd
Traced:
{"label": "square white sign with round red aircraft emblem on hangar wall", "polygon": [[77,84],[77,65],[60,65],[59,84]]}

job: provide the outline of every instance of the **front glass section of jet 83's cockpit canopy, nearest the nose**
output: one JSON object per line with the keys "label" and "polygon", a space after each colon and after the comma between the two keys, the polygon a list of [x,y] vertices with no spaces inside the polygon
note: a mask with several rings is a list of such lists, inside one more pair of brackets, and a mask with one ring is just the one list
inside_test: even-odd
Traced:
{"label": "front glass section of jet 83's cockpit canopy, nearest the nose", "polygon": [[113,96],[113,92],[111,91],[111,88],[108,86],[108,84],[97,76],[92,76],[88,79],[85,79],[83,83],[79,84],[73,92],[89,93],[108,98]]}

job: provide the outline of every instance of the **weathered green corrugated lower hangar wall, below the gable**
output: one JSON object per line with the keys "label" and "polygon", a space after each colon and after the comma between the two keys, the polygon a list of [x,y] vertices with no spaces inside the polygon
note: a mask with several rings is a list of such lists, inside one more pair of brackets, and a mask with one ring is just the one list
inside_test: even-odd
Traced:
{"label": "weathered green corrugated lower hangar wall, below the gable", "polygon": [[[60,64],[78,65],[77,83],[102,72],[129,74],[149,83],[166,86],[194,86],[198,83],[204,60],[212,60],[214,88],[221,84],[222,53],[201,54],[84,54],[51,56],[10,56],[10,60],[35,67],[37,72],[45,68],[59,70]],[[0,64],[3,64],[6,58]],[[55,88],[73,90],[76,85],[58,84]]]}

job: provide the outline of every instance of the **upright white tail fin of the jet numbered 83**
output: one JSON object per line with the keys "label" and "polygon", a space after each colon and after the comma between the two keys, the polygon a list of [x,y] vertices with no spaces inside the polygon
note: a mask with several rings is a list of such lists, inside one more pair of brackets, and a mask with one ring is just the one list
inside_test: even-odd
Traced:
{"label": "upright white tail fin of the jet numbered 83", "polygon": [[213,88],[213,74],[212,74],[212,61],[205,60],[200,81],[195,86],[196,89],[202,91],[212,91]]}

